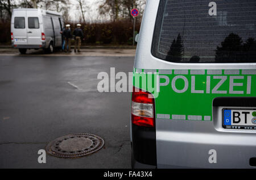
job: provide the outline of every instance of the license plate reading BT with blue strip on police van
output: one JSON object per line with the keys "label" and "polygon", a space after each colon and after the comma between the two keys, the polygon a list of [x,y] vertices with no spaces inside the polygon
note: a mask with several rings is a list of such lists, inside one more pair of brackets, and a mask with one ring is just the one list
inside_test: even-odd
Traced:
{"label": "license plate reading BT with blue strip on police van", "polygon": [[255,129],[256,109],[223,109],[223,127],[226,129]]}

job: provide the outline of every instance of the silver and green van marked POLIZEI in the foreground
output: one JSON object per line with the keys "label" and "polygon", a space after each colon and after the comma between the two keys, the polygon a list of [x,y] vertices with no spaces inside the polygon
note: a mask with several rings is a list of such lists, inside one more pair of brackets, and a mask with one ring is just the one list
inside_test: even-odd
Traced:
{"label": "silver and green van marked POLIZEI in the foreground", "polygon": [[256,168],[256,1],[148,0],[133,168]]}

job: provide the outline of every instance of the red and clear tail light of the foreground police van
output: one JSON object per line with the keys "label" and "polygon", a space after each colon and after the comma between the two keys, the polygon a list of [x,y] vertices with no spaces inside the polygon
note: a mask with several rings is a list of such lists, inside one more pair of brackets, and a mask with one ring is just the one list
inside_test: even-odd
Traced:
{"label": "red and clear tail light of the foreground police van", "polygon": [[155,99],[151,93],[133,87],[131,122],[144,127],[155,127]]}

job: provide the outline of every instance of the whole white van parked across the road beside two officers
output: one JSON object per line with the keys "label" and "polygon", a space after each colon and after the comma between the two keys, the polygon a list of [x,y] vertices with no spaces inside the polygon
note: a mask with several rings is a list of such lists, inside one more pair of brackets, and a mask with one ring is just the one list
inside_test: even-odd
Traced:
{"label": "whole white van parked across the road beside two officers", "polygon": [[11,44],[21,54],[27,49],[43,48],[53,52],[61,47],[64,27],[60,13],[41,9],[14,9],[11,17]]}

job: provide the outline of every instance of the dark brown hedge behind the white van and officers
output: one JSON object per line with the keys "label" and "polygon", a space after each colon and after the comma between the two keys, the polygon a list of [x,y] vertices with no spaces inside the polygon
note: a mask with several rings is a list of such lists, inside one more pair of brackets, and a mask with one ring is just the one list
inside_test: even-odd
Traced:
{"label": "dark brown hedge behind the white van and officers", "polygon": [[[72,31],[76,24],[71,24]],[[130,45],[133,44],[133,22],[120,20],[106,23],[81,23],[85,41],[82,44],[90,45]],[[137,22],[135,30],[138,32],[141,23]],[[11,44],[10,22],[0,20],[0,44]]]}

